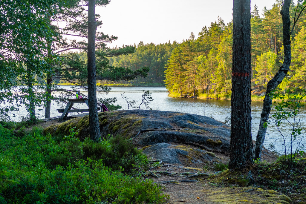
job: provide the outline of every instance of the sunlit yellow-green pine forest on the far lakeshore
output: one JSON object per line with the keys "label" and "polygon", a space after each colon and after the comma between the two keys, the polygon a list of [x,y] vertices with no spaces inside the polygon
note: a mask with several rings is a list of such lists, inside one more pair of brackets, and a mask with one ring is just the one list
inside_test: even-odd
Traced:
{"label": "sunlit yellow-green pine forest on the far lakeshore", "polygon": [[[290,15],[294,17],[294,4]],[[260,95],[267,82],[282,65],[281,1],[272,9],[260,12],[252,9],[252,87]],[[261,14],[261,15],[260,15]],[[261,17],[262,16],[262,17]],[[209,27],[204,26],[198,38],[191,33],[182,43],[155,45],[140,42],[132,54],[110,57],[110,65],[130,67],[132,70],[147,66],[148,76],[130,83],[165,83],[172,97],[228,98],[231,94],[232,22],[225,24],[218,17]],[[306,87],[306,16],[300,15],[292,33],[292,65],[280,85]]]}

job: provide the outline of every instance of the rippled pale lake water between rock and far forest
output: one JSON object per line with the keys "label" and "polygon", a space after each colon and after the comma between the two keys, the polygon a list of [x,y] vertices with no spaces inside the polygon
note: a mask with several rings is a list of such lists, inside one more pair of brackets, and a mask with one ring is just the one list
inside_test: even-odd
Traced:
{"label": "rippled pale lake water between rock and far forest", "polygon": [[[69,88],[69,86],[61,86]],[[114,98],[117,97],[118,101],[116,104],[122,106],[122,109],[127,109],[127,104],[121,98],[121,94],[129,98],[129,100],[138,100],[141,98],[143,92],[142,90],[149,90],[152,92],[152,98],[154,99],[150,102],[149,106],[154,110],[166,110],[166,111],[176,111],[182,113],[192,113],[203,115],[207,117],[213,117],[218,121],[224,122],[226,117],[230,117],[231,106],[229,100],[205,100],[205,99],[193,99],[193,98],[170,98],[166,92],[166,87],[112,87],[112,90],[108,95],[99,95],[98,97]],[[83,92],[81,90],[81,92]],[[87,95],[87,93],[83,92]],[[252,137],[255,140],[258,125],[260,120],[260,114],[262,110],[263,102],[252,102]],[[86,108],[87,106],[82,104],[80,108]],[[51,117],[61,116],[62,113],[58,113],[56,109],[63,108],[58,106],[57,103],[51,105]],[[145,107],[142,107],[145,109]],[[38,108],[37,108],[38,109]],[[36,113],[41,114],[40,118],[43,118],[44,107],[41,107],[41,111],[36,109]],[[70,113],[72,114],[72,113]],[[27,115],[27,111],[24,107],[20,108],[20,111],[16,114],[17,116]],[[301,110],[300,119],[306,119],[306,110]],[[19,118],[16,118],[18,121]],[[306,127],[305,121],[302,121],[304,127]],[[290,131],[290,127],[286,126],[282,129],[285,132]],[[270,143],[274,143],[278,151],[283,151],[281,135],[278,133],[274,124],[268,126],[266,139],[264,146],[269,147]],[[305,141],[306,142],[306,141]]]}

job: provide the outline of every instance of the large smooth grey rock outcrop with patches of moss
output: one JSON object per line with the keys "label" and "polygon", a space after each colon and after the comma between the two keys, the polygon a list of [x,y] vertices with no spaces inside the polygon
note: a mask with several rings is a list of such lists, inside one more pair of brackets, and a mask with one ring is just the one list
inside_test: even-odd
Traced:
{"label": "large smooth grey rock outcrop with patches of moss", "polygon": [[[201,163],[218,160],[211,152],[228,154],[230,127],[212,118],[170,111],[121,110],[99,113],[101,135],[131,138],[149,157],[167,163]],[[88,116],[75,118],[45,129],[46,133],[89,136]],[[147,147],[149,146],[149,147]]]}

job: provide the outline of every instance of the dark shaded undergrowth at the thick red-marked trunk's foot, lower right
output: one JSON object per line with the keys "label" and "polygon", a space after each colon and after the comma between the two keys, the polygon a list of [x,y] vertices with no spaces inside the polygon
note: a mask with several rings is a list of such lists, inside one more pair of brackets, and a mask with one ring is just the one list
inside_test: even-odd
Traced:
{"label": "dark shaded undergrowth at the thick red-marked trunk's foot, lower right", "polygon": [[[282,156],[276,162],[255,161],[255,164],[241,171],[223,170],[209,178],[209,182],[222,187],[257,187],[277,191],[290,198],[282,203],[306,204],[306,158],[299,155],[292,167],[285,164]],[[221,169],[220,169],[221,170]]]}

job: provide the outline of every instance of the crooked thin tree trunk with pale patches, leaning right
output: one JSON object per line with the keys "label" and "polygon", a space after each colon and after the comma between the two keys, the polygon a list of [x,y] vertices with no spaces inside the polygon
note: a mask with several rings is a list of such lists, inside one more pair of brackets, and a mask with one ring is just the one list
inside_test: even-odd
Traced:
{"label": "crooked thin tree trunk with pale patches, leaning right", "polygon": [[278,72],[275,74],[273,79],[271,79],[267,84],[267,91],[265,98],[263,100],[263,110],[260,116],[259,130],[256,136],[256,144],[254,150],[254,158],[261,157],[261,150],[263,148],[263,141],[266,136],[267,127],[264,125],[265,122],[269,119],[269,114],[271,111],[272,98],[270,98],[269,94],[271,91],[275,90],[275,88],[282,83],[285,78],[287,72],[289,71],[290,63],[291,63],[291,40],[290,40],[290,15],[289,15],[289,7],[292,0],[285,0],[283,4],[283,8],[281,10],[282,20],[283,20],[283,45],[284,45],[284,54],[285,59],[283,65],[279,68]]}

